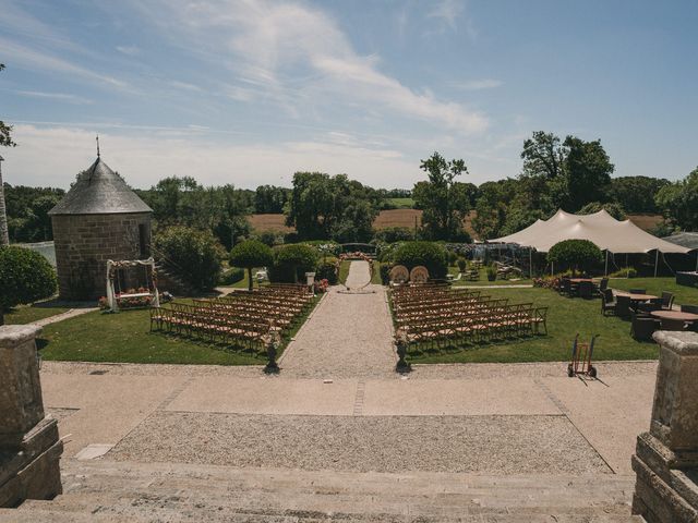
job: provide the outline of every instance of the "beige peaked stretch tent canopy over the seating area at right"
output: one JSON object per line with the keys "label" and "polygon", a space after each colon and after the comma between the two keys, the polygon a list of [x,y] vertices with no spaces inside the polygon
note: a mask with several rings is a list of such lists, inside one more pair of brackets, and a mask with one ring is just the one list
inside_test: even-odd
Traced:
{"label": "beige peaked stretch tent canopy over the seating area at right", "polygon": [[616,220],[604,209],[593,215],[573,215],[559,209],[547,220],[537,220],[522,231],[490,242],[518,243],[540,253],[547,253],[563,240],[589,240],[602,251],[623,254],[655,250],[686,254],[690,251],[645,232],[630,220]]}

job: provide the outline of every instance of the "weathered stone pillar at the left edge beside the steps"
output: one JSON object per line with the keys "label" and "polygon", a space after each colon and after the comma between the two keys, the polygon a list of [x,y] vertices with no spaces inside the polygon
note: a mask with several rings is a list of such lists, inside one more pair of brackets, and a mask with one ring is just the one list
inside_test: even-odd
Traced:
{"label": "weathered stone pillar at the left edge beside the steps", "polygon": [[58,422],[44,415],[35,338],[40,327],[0,327],[0,507],[62,492]]}

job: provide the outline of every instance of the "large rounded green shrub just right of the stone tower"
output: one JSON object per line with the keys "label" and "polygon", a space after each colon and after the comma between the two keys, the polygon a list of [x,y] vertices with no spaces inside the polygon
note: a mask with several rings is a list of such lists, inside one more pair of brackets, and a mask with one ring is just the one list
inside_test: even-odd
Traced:
{"label": "large rounded green shrub just right of the stone tower", "polygon": [[165,266],[196,289],[213,289],[226,252],[209,231],[176,226],[155,236],[156,254]]}

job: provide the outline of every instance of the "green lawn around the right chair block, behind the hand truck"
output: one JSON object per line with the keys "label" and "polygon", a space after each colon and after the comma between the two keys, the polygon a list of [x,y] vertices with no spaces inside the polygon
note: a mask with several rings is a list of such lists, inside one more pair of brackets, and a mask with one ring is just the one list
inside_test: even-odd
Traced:
{"label": "green lawn around the right chair block, behind the hand truck", "polygon": [[509,303],[533,303],[547,306],[547,336],[505,340],[483,345],[441,350],[410,349],[412,363],[518,363],[567,361],[575,335],[588,342],[597,340],[594,360],[651,360],[658,357],[654,343],[640,343],[630,338],[630,323],[601,315],[599,300],[559,296],[550,289],[497,289],[484,291],[492,297],[508,297]]}

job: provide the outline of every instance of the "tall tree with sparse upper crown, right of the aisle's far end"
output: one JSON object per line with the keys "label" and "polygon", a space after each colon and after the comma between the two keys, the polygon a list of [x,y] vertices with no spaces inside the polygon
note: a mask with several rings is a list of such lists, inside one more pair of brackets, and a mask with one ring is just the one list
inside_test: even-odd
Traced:
{"label": "tall tree with sparse upper crown, right of the aisle's far end", "polygon": [[424,235],[432,240],[450,240],[462,230],[462,220],[470,210],[470,193],[465,184],[456,183],[456,178],[468,168],[464,160],[446,159],[434,153],[422,160],[420,169],[426,172],[429,181],[418,182],[412,197],[422,214]]}

